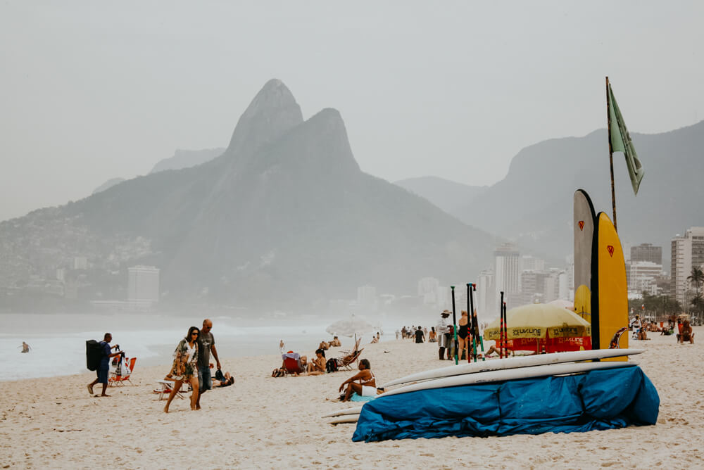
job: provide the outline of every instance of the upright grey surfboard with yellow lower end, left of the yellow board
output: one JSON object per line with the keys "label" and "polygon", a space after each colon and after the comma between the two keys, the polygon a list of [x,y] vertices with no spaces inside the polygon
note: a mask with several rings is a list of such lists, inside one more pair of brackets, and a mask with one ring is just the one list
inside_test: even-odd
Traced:
{"label": "upright grey surfboard with yellow lower end, left of the yellow board", "polygon": [[591,245],[596,214],[589,194],[574,191],[574,312],[591,322]]}

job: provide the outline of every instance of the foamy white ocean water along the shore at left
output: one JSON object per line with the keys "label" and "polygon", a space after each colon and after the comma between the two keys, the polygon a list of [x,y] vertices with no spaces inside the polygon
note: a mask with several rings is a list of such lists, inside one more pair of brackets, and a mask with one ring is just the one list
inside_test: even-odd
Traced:
{"label": "foamy white ocean water along the shore at left", "polygon": [[[315,317],[298,320],[260,320],[250,326],[242,319],[212,317],[213,336],[218,356],[225,370],[233,370],[225,358],[279,354],[279,341],[286,350],[310,355],[320,341],[332,336],[325,328],[335,319]],[[169,364],[177,343],[190,326],[201,326],[202,318],[188,319],[168,315],[0,315],[0,381],[78,374],[88,371],[85,342],[101,341],[109,331],[112,345],[119,344],[128,357],[137,357],[135,369],[156,364]],[[252,326],[254,325],[254,326]],[[389,329],[382,341],[394,339]],[[353,338],[340,336],[343,347],[351,347]],[[22,354],[22,342],[30,345]],[[369,343],[371,336],[363,338]],[[214,362],[214,361],[213,361]],[[278,364],[272,363],[272,369]],[[166,374],[168,366],[165,367]]]}

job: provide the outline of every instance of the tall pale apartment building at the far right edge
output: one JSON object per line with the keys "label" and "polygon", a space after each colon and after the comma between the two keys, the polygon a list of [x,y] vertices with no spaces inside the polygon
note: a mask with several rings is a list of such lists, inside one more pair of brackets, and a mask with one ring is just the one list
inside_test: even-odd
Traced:
{"label": "tall pale apartment building at the far right edge", "polygon": [[690,300],[688,291],[694,290],[687,277],[692,267],[704,265],[704,227],[691,227],[684,236],[677,234],[670,242],[670,249],[670,296],[684,307]]}

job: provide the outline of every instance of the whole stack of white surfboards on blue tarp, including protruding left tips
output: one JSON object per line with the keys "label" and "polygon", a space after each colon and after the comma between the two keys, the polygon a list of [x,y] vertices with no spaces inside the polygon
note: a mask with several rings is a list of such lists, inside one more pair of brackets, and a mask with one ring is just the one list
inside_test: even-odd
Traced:
{"label": "whole stack of white surfboards on blue tarp, including protruding left tips", "polygon": [[[377,398],[401,393],[410,393],[432,388],[446,388],[470,385],[472,383],[491,383],[515,379],[529,379],[565,374],[584,374],[598,369],[633,367],[636,362],[598,362],[608,357],[622,357],[641,354],[642,349],[596,349],[573,352],[556,352],[525,357],[510,357],[486,362],[472,362],[450,367],[441,367],[419,372],[384,383],[384,388],[407,384],[393,390],[386,390]],[[584,362],[596,361],[596,362]],[[326,414],[323,418],[335,418],[330,424],[356,423],[362,412],[362,406],[339,409]]]}

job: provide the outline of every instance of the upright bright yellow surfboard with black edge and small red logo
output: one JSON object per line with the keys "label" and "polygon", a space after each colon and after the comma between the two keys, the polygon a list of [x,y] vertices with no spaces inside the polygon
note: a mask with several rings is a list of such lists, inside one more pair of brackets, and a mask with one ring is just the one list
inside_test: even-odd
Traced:
{"label": "upright bright yellow surfboard with black edge and small red logo", "polygon": [[[624,334],[628,328],[626,262],[616,229],[604,212],[597,216],[591,263],[591,347],[627,349],[628,334]],[[624,361],[627,357],[604,360]]]}

